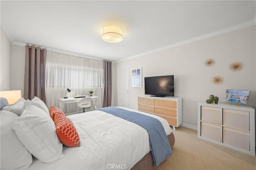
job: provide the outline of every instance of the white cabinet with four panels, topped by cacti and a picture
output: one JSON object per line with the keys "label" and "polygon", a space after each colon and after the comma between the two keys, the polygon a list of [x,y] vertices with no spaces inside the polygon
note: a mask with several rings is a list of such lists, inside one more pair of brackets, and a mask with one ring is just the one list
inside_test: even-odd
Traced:
{"label": "white cabinet with four panels, topped by cacti and a picture", "polygon": [[198,138],[255,156],[255,111],[247,105],[198,103]]}

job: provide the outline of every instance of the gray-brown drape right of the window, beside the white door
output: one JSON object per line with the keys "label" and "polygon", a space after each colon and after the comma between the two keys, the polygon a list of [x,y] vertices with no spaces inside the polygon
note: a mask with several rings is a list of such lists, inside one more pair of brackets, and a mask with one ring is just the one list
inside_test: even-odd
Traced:
{"label": "gray-brown drape right of the window, beside the white door", "polygon": [[112,99],[112,62],[104,61],[104,95],[102,107],[111,106]]}

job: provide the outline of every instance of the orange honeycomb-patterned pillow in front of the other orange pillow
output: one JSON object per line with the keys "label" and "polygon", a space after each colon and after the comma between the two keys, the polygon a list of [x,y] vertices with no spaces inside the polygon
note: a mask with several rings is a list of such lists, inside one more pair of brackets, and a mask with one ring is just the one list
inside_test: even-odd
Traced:
{"label": "orange honeycomb-patterned pillow in front of the other orange pillow", "polygon": [[66,147],[80,147],[80,138],[73,122],[64,114],[55,113],[54,123],[57,136]]}

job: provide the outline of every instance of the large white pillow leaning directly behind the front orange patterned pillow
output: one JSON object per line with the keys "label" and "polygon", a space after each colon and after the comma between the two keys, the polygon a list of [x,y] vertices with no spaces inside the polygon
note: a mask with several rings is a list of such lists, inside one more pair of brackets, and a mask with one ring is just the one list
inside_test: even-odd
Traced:
{"label": "large white pillow leaning directly behind the front orange patterned pillow", "polygon": [[39,107],[24,106],[12,128],[26,149],[41,162],[55,162],[64,156],[54,121]]}

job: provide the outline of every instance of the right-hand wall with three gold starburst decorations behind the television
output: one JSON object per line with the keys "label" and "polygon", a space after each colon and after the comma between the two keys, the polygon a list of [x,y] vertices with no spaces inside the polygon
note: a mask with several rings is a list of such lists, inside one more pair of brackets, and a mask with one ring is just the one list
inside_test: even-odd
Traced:
{"label": "right-hand wall with three gold starburst decorations behind the television", "polygon": [[[208,99],[210,94],[224,102],[226,89],[251,90],[248,104],[256,107],[255,30],[254,25],[115,63],[116,87],[118,68],[142,67],[142,88],[130,88],[130,108],[138,109],[137,96],[144,95],[144,77],[174,75],[175,96],[182,98],[183,123],[192,127],[197,127],[197,103]],[[204,66],[204,61],[210,58],[216,61],[214,66]],[[228,69],[235,61],[244,64],[241,71]],[[222,84],[212,83],[212,77],[217,75],[224,78]],[[114,105],[118,106],[118,89],[114,98]]]}

